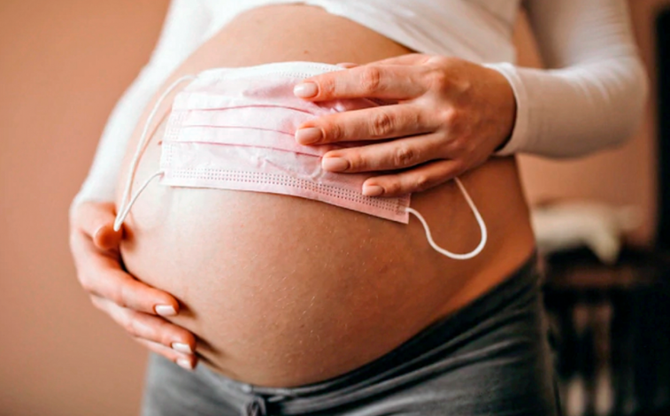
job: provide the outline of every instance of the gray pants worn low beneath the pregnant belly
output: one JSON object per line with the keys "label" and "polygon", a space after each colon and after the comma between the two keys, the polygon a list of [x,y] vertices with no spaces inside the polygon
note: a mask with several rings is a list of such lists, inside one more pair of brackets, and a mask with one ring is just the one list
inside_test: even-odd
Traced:
{"label": "gray pants worn low beneath the pregnant belly", "polygon": [[297,388],[253,386],[152,356],[144,416],[558,414],[535,257],[385,356]]}

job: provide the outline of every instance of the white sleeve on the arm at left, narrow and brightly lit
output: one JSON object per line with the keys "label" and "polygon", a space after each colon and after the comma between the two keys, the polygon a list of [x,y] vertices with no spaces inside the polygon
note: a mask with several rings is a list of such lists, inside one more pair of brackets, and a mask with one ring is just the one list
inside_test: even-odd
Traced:
{"label": "white sleeve on the arm at left, narrow and brightly lit", "polygon": [[170,73],[202,42],[210,17],[197,0],[172,0],[150,61],[114,107],[98,143],[93,165],[73,205],[113,201],[128,140],[151,97]]}

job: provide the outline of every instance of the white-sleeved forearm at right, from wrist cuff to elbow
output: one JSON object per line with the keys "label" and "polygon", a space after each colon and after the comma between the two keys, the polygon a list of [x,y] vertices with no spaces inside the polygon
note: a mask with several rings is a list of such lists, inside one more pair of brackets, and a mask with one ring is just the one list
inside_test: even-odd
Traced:
{"label": "white-sleeved forearm at right, from wrist cuff to elbow", "polygon": [[501,156],[579,157],[624,143],[638,127],[648,86],[637,58],[549,71],[491,66],[510,81],[517,99],[515,127]]}

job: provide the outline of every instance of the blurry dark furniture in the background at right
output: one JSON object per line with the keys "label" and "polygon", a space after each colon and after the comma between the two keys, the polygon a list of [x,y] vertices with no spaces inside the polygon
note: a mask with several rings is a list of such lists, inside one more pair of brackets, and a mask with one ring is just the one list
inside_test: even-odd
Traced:
{"label": "blurry dark furniture in the background at right", "polygon": [[655,27],[658,229],[649,251],[604,266],[588,250],[545,259],[566,416],[670,416],[670,8]]}

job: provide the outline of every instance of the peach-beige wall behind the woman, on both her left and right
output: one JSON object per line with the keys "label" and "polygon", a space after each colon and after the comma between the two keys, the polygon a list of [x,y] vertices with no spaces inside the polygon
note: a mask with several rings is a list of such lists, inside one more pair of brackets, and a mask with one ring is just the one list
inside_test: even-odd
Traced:
{"label": "peach-beige wall behind the woman, on both her left and right", "polygon": [[[638,35],[658,1],[635,0]],[[667,3],[667,2],[666,2]],[[107,114],[148,57],[167,0],[0,0],[0,414],[127,415],[145,353],[79,288],[66,212]],[[646,59],[651,49],[643,48]],[[649,120],[648,120],[649,121]],[[653,229],[652,124],[626,148],[524,160],[531,200],[639,203]]]}

